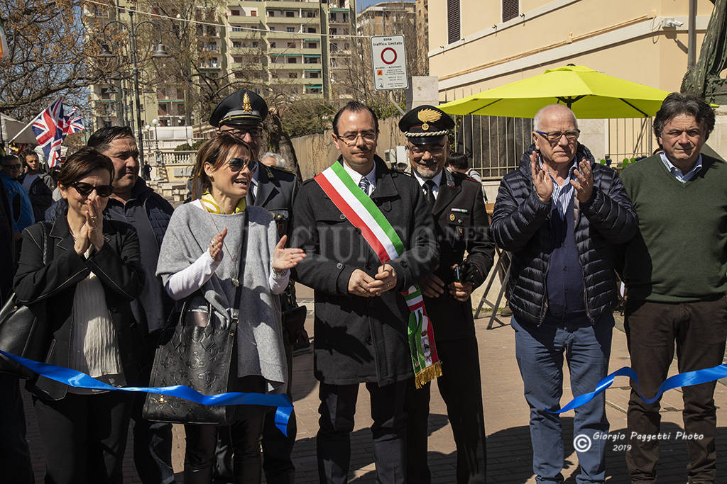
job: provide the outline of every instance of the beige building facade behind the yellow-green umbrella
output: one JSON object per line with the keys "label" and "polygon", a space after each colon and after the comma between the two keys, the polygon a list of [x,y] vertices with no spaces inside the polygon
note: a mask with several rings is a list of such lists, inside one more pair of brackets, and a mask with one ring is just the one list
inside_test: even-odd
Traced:
{"label": "beige building facade behind the yellow-green umbrella", "polygon": [[[430,75],[438,78],[440,102],[542,74],[567,64],[647,86],[678,91],[687,69],[688,4],[676,0],[443,0],[429,7]],[[712,3],[696,1],[696,55]],[[467,129],[487,124],[500,130],[502,143],[483,143],[475,168],[493,181],[518,164],[529,144],[529,120],[470,116]],[[510,128],[491,128],[510,123]],[[465,123],[466,124],[466,123]],[[646,155],[654,149],[650,120],[582,120],[581,141],[597,160]],[[482,128],[486,133],[487,128]],[[510,131],[508,131],[510,130]],[[479,131],[478,131],[479,132]],[[484,134],[483,137],[487,135]],[[465,136],[466,137],[466,136]],[[496,136],[497,137],[497,136]],[[711,140],[710,140],[711,141]],[[495,159],[499,157],[499,160]],[[503,159],[505,158],[505,159]]]}

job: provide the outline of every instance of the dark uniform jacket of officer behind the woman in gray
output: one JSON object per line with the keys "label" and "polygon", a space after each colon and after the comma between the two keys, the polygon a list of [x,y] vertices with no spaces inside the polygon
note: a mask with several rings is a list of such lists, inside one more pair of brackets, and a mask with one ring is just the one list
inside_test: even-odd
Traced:
{"label": "dark uniform jacket of officer behind the woman in gray", "polygon": [[262,163],[257,169],[260,173],[257,173],[257,196],[254,205],[273,213],[278,226],[278,237],[285,234],[290,237],[291,208],[298,191],[298,179],[292,171]]}

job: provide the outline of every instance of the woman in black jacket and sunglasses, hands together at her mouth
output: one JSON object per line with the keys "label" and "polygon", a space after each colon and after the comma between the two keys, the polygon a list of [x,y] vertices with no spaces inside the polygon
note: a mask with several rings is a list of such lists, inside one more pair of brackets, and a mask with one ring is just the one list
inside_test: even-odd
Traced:
{"label": "woman in black jacket and sunglasses, hands together at her mouth", "polygon": [[[95,149],[68,157],[58,177],[68,210],[52,224],[23,231],[15,292],[23,303],[45,301],[52,332],[45,361],[121,387],[138,372],[141,333],[129,302],[141,290],[143,273],[136,231],[101,215],[112,176],[113,163]],[[129,396],[45,377],[30,386],[45,482],[121,483]]]}

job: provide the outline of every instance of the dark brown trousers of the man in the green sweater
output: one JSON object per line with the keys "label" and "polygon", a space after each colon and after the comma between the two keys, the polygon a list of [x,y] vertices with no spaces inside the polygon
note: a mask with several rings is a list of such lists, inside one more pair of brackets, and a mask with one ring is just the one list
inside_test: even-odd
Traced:
{"label": "dark brown trousers of the man in the green sweater", "polygon": [[[696,303],[648,303],[628,300],[624,329],[631,355],[631,367],[638,374],[641,393],[650,398],[666,380],[674,358],[676,342],[680,373],[722,364],[727,337],[727,298]],[[715,433],[717,417],[714,401],[716,382],[683,387],[684,430],[704,438],[687,440],[690,483],[715,482]],[[631,382],[627,416],[629,436],[659,433],[659,401],[644,403]],[[659,440],[630,438],[626,464],[633,483],[656,481]]]}

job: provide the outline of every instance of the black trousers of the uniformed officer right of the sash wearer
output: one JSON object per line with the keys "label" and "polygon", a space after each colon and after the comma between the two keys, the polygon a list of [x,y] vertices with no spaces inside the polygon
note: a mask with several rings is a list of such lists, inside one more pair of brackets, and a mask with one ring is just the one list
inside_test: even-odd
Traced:
{"label": "black trousers of the uniformed officer right of the sash wearer", "polygon": [[[457,483],[484,483],[486,477],[485,419],[482,411],[480,359],[475,335],[438,341],[442,376],[439,393],[457,446]],[[427,419],[431,385],[417,390],[414,380],[406,389],[406,474],[410,483],[429,484]]]}

